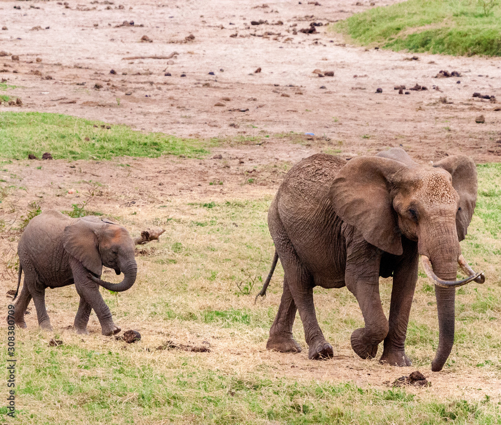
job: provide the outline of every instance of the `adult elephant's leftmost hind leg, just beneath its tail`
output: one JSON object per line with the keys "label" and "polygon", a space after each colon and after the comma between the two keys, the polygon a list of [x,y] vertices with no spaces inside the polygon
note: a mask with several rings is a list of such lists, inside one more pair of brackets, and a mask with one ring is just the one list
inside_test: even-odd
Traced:
{"label": "adult elephant's leftmost hind leg, just beneath its tail", "polygon": [[296,304],[292,298],[287,279],[284,279],[284,293],[280,301],[279,311],[270,329],[270,338],[266,343],[267,350],[276,350],[283,353],[300,353],[301,346],[292,336],[292,325],[296,318]]}

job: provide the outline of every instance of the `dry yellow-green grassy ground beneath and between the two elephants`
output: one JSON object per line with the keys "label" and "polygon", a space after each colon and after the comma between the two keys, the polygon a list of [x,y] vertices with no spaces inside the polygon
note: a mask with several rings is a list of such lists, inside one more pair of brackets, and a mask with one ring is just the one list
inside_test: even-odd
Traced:
{"label": "dry yellow-green grassy ground beneath and between the two elephants", "polygon": [[[12,423],[501,423],[495,386],[501,379],[501,165],[480,165],[478,172],[478,204],[462,250],[474,269],[485,270],[487,282],[457,291],[456,340],[443,372],[430,377],[438,323],[434,291],[422,272],[406,340],[411,368],[379,365],[353,353],[350,334],[363,322],[346,289],[315,293],[335,359],[307,359],[299,317],[294,334],[303,353],[267,352],[281,296],[280,265],[268,297],[255,305],[254,295],[273,256],[266,224],[271,196],[177,198],[138,215],[126,210],[114,215],[131,231],[152,221],[167,229],[161,242],[137,249],[139,274],[131,290],[118,295],[102,290],[115,321],[124,330],[138,329],[142,340],[129,345],[102,337],[94,314],[89,335],[65,330],[78,307],[75,289],[48,291],[55,332],[37,328],[33,304],[28,329],[16,331],[19,410]],[[390,292],[391,280],[382,279],[386,310]],[[53,337],[63,345],[48,346]],[[5,338],[2,332],[2,346]],[[157,349],[169,340],[206,341],[210,352]],[[1,350],[3,364],[5,355]],[[428,375],[431,387],[385,383],[416,369]]]}

